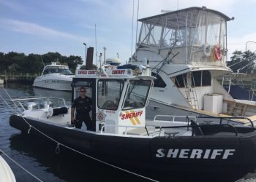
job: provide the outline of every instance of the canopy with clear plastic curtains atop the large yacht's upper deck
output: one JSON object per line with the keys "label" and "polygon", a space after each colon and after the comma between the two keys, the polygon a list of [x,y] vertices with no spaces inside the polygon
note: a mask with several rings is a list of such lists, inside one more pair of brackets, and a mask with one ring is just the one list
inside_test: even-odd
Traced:
{"label": "canopy with clear plastic curtains atop the large yacht's upper deck", "polygon": [[[140,19],[141,28],[137,50],[157,48],[166,58],[172,48],[178,52],[178,62],[195,64],[218,60],[223,66],[227,60],[227,17],[206,7],[190,7]],[[165,51],[166,50],[166,51]],[[175,60],[174,60],[175,61]],[[201,63],[199,63],[201,64]]]}

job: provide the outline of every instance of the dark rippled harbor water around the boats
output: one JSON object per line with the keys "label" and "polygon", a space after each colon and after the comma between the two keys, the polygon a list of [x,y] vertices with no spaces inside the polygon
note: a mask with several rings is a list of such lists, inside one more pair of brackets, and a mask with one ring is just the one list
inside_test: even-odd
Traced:
{"label": "dark rippled harbor water around the boats", "polygon": [[[71,92],[41,90],[23,84],[7,84],[4,86],[12,98],[28,97],[59,97],[71,103]],[[0,95],[8,99],[0,87]],[[102,163],[95,162],[80,154],[61,149],[61,154],[55,154],[56,144],[46,139],[34,138],[31,135],[22,135],[19,130],[10,127],[9,117],[12,109],[0,97],[0,149],[10,156],[19,165],[29,170],[42,181],[146,181]],[[15,173],[19,182],[38,181],[23,169],[15,165],[10,159],[1,155]],[[183,181],[170,179],[170,181]],[[256,173],[249,173],[238,182],[256,181]]]}

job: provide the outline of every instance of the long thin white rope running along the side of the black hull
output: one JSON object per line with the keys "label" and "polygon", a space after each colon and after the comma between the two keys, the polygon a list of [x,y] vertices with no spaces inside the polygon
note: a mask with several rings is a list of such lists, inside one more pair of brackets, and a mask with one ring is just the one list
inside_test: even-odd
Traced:
{"label": "long thin white rope running along the side of the black hull", "polygon": [[[27,122],[26,119],[25,119],[23,116],[22,116],[22,118],[23,118],[23,120],[26,122],[26,124],[29,124],[29,122]],[[33,127],[33,126],[32,126],[31,124],[29,124],[29,127]],[[65,148],[67,148],[67,149],[69,149],[69,150],[71,150],[71,151],[75,151],[75,152],[77,152],[78,154],[81,154],[81,155],[83,155],[83,156],[85,156],[85,157],[89,157],[90,159],[94,159],[94,160],[96,160],[97,162],[101,162],[101,163],[103,163],[103,164],[105,164],[105,165],[108,165],[108,166],[110,166],[110,167],[116,168],[116,169],[118,169],[118,170],[122,170],[122,171],[124,171],[124,172],[126,172],[126,173],[129,173],[129,174],[132,174],[132,175],[136,175],[136,176],[138,176],[138,177],[140,177],[140,178],[144,178],[144,179],[146,179],[146,180],[148,180],[148,181],[159,182],[159,181],[154,180],[154,179],[152,179],[152,178],[148,178],[148,177],[146,177],[146,176],[144,176],[144,175],[140,175],[140,174],[138,174],[138,173],[134,173],[134,172],[132,172],[132,171],[125,170],[125,169],[123,169],[123,168],[121,168],[121,167],[118,167],[118,166],[116,166],[116,165],[111,165],[111,164],[108,163],[108,162],[102,161],[102,160],[97,159],[97,158],[95,158],[95,157],[91,157],[91,156],[88,155],[88,154],[84,154],[83,152],[80,152],[80,151],[77,151],[77,150],[75,150],[75,149],[72,149],[71,147],[66,146],[66,145],[64,145],[63,143],[59,143],[58,141],[56,141],[56,140],[54,140],[53,138],[51,138],[50,136],[46,135],[44,132],[41,132],[41,131],[38,130],[37,128],[35,128],[35,127],[33,127],[33,128],[34,128],[34,130],[37,130],[37,132],[39,132],[39,133],[41,133],[42,135],[44,135],[46,138],[49,138],[51,141],[54,141],[54,142],[57,143],[57,146],[56,146],[56,149],[55,149],[56,154],[58,154],[57,152],[60,153],[59,146],[61,145],[61,146],[64,146]]]}

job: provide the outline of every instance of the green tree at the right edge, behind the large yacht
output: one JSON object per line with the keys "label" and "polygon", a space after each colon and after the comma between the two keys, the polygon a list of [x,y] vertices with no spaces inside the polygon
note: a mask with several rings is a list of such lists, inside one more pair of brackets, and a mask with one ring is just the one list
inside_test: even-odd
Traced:
{"label": "green tree at the right edge, behind the large yacht", "polygon": [[229,66],[232,71],[236,73],[256,73],[255,61],[255,52],[250,52],[249,50],[246,52],[241,52],[236,50],[235,52],[233,52],[230,61],[227,62],[227,66]]}

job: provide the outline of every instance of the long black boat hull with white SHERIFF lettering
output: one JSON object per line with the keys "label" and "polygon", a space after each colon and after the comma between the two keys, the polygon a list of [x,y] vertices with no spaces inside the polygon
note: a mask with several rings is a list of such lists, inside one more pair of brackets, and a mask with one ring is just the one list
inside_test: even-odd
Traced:
{"label": "long black boat hull with white SHERIFF lettering", "polygon": [[10,126],[23,132],[29,131],[28,123],[40,131],[31,127],[31,135],[49,136],[83,154],[160,181],[170,181],[173,176],[235,181],[255,169],[255,132],[242,137],[132,138],[96,135],[34,119],[27,118],[25,122],[21,116],[10,117]]}

